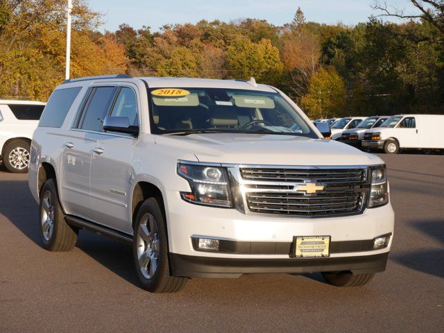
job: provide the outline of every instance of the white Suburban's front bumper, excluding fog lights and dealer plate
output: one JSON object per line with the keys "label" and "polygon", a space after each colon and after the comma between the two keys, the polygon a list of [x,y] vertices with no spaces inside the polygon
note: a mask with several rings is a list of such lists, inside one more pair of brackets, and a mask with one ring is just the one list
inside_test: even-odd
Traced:
{"label": "white Suburban's front bumper, excluding fog lights and dealer plate", "polygon": [[[166,199],[169,252],[173,255],[289,260],[289,244],[294,236],[319,235],[331,237],[334,248],[330,259],[380,255],[391,247],[391,241],[379,250],[366,246],[375,237],[393,235],[395,217],[390,203],[356,215],[305,218],[248,215],[234,209],[193,205],[173,190],[166,191]],[[228,246],[225,252],[203,252],[196,250],[194,237],[224,239],[236,246]]]}

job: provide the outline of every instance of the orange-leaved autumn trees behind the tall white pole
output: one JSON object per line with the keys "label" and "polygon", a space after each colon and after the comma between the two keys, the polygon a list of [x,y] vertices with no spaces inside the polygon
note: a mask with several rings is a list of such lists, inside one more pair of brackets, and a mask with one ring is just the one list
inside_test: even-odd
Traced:
{"label": "orange-leaved autumn trees behind the tall white pole", "polygon": [[[64,0],[1,1],[0,95],[46,100],[65,73]],[[71,75],[106,74],[126,69],[123,47],[95,31],[100,15],[74,1]]]}

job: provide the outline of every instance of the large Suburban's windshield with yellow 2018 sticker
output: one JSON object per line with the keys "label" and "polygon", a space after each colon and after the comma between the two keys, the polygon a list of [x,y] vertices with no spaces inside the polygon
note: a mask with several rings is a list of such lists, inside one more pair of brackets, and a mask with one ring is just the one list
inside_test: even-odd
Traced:
{"label": "large Suburban's windshield with yellow 2018 sticker", "polygon": [[148,91],[154,134],[260,133],[318,138],[280,94],[223,88]]}

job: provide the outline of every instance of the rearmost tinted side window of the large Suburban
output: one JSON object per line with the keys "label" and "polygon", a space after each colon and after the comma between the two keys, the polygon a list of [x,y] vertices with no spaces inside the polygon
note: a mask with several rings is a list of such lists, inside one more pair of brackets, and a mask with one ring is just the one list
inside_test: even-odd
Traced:
{"label": "rearmost tinted side window of the large Suburban", "polygon": [[44,108],[40,127],[61,127],[81,87],[55,90]]}

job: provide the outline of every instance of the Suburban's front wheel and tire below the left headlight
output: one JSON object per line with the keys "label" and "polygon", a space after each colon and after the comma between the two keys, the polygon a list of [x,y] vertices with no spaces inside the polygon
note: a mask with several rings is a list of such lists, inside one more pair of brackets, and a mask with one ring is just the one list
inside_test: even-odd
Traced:
{"label": "Suburban's front wheel and tire below the left headlight", "polygon": [[187,283],[187,278],[170,274],[165,225],[157,200],[146,199],[137,212],[133,256],[142,288],[151,293],[175,293]]}

